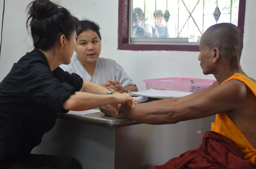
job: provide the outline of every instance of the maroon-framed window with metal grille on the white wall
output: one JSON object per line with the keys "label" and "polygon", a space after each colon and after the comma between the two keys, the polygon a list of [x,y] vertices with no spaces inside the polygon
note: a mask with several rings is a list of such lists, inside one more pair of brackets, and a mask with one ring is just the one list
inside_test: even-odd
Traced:
{"label": "maroon-framed window with metal grille on the white wall", "polygon": [[[119,0],[118,49],[199,51],[202,33],[213,24],[231,22],[243,33],[245,3],[246,0]],[[162,21],[162,29],[157,28],[158,21]]]}

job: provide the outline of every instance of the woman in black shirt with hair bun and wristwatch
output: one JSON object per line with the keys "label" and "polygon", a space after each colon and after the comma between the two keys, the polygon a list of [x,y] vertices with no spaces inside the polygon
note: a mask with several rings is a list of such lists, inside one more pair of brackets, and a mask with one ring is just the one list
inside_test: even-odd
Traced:
{"label": "woman in black shirt with hair bun and wristwatch", "polygon": [[118,112],[118,104],[131,106],[134,100],[126,93],[106,94],[106,88],[58,67],[70,63],[80,29],[68,10],[49,0],[34,0],[27,9],[35,48],[0,83],[0,168],[78,169],[73,158],[30,151],[52,129],[58,113],[107,104]]}

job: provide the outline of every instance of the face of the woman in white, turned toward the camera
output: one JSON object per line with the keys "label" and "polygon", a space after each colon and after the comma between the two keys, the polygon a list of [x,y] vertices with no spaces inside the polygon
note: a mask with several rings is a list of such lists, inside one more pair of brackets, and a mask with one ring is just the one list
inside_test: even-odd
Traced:
{"label": "face of the woman in white, turned toward the camera", "polygon": [[75,51],[81,63],[96,63],[101,51],[100,37],[91,29],[83,31],[76,39]]}

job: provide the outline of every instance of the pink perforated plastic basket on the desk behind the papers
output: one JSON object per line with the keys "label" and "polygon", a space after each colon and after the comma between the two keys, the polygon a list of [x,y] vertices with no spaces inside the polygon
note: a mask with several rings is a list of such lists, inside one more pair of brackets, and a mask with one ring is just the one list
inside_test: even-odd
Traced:
{"label": "pink perforated plastic basket on the desk behind the papers", "polygon": [[150,88],[158,90],[176,90],[181,92],[199,92],[209,87],[214,79],[194,79],[183,77],[170,77],[161,79],[146,79],[147,90]]}

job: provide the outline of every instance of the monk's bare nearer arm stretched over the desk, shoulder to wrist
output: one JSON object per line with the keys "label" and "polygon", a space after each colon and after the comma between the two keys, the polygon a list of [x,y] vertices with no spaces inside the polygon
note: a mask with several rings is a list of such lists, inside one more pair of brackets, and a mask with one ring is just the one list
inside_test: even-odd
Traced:
{"label": "monk's bare nearer arm stretched over the desk, shoulder to wrist", "polygon": [[119,118],[128,118],[147,124],[174,124],[180,121],[204,118],[244,106],[247,92],[244,83],[231,80],[176,106],[134,106],[122,108]]}

